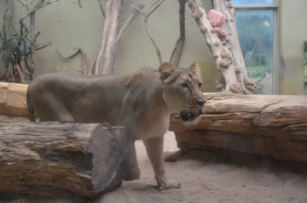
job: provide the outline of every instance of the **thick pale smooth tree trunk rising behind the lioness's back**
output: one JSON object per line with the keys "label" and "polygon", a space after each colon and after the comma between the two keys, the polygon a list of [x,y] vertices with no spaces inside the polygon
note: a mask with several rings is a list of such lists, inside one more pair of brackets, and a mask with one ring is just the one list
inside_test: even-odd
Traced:
{"label": "thick pale smooth tree trunk rising behind the lioness's back", "polygon": [[106,13],[103,32],[98,51],[95,75],[113,74],[119,32],[119,16],[124,0],[108,0],[105,4]]}

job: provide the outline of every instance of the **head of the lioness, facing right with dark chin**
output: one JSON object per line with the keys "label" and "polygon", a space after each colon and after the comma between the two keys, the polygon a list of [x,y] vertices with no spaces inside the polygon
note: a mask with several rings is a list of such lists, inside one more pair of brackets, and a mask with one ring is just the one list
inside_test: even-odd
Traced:
{"label": "head of the lioness, facing right with dark chin", "polygon": [[163,98],[171,112],[180,114],[184,122],[194,121],[205,114],[201,70],[194,62],[189,69],[177,68],[168,62],[159,67],[163,83]]}

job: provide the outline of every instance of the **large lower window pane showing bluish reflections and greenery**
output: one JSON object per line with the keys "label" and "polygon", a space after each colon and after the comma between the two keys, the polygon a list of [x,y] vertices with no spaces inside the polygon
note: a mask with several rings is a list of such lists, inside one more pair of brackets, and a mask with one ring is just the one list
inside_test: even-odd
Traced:
{"label": "large lower window pane showing bluish reflections and greenery", "polygon": [[273,94],[273,18],[273,10],[236,11],[239,43],[256,94]]}

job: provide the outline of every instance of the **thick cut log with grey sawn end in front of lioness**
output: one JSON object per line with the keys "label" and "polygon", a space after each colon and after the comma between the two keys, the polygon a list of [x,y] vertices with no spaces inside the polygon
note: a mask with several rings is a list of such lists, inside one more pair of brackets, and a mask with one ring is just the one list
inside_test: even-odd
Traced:
{"label": "thick cut log with grey sawn end in front of lioness", "polygon": [[51,188],[97,197],[122,185],[129,142],[122,127],[0,123],[0,193]]}

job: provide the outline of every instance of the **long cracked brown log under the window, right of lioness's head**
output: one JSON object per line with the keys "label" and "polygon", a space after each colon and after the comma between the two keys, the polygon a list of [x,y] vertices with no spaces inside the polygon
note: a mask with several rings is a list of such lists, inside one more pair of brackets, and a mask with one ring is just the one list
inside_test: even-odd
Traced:
{"label": "long cracked brown log under the window, right of lioness's head", "polygon": [[[229,149],[307,163],[307,97],[291,95],[204,94],[208,100],[195,125],[171,115],[183,149]],[[187,147],[188,146],[188,147]]]}

